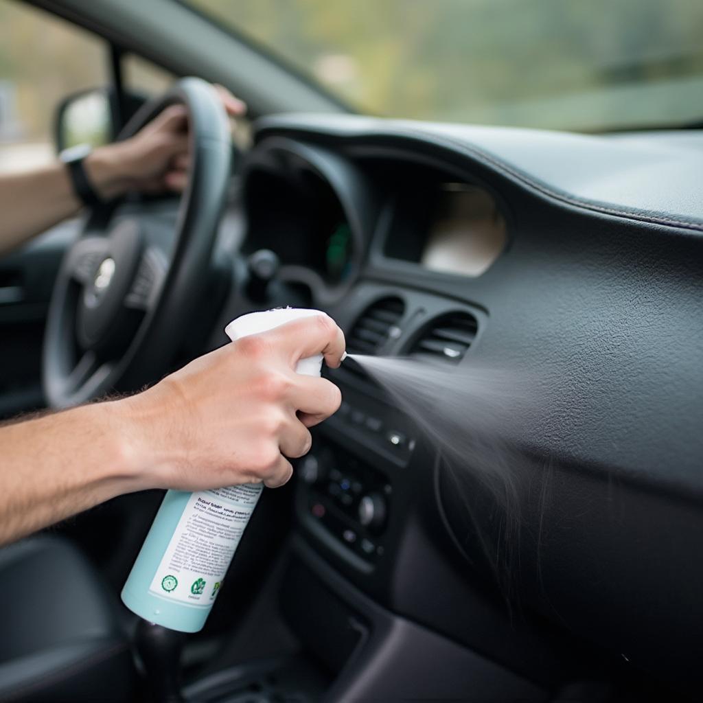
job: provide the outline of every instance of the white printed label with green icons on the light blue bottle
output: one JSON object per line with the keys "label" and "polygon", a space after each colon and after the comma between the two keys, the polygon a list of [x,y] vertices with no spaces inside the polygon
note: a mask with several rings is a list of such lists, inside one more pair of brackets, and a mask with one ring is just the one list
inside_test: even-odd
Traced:
{"label": "white printed label with green icons on the light blue bottle", "polygon": [[212,607],[263,487],[245,484],[191,494],[150,593],[196,608]]}

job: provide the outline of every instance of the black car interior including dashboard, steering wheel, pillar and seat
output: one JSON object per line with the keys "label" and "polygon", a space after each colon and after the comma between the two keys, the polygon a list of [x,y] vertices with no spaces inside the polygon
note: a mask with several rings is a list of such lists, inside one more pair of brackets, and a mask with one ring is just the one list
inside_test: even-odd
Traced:
{"label": "black car interior including dashboard, steering wheel, pillar and seat", "polygon": [[[0,699],[699,699],[700,125],[363,114],[187,3],[21,7],[103,53],[97,92],[56,108],[57,150],[86,96],[111,138],[183,103],[193,164],[182,196],[130,194],[0,259],[2,418],[136,391],[286,306],[327,312],[349,352],[540,392],[497,430],[517,524],[470,456],[457,480],[430,411],[325,370],[342,406],[264,490],[194,635],[140,643],[119,598],[163,491],[3,548]],[[132,86],[135,59],[167,87]],[[247,103],[234,138],[205,81]],[[88,310],[106,252],[124,275]]]}

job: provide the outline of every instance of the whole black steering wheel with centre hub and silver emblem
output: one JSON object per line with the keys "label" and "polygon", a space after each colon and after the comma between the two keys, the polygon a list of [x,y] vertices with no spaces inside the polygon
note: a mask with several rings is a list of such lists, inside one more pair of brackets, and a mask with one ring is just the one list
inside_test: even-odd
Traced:
{"label": "whole black steering wheel with centre hub and silver emblem", "polygon": [[49,405],[64,408],[162,373],[202,303],[230,178],[228,119],[212,86],[176,82],[124,127],[127,138],[168,105],[188,111],[191,162],[174,236],[138,206],[88,225],[67,250],[53,288],[42,375]]}

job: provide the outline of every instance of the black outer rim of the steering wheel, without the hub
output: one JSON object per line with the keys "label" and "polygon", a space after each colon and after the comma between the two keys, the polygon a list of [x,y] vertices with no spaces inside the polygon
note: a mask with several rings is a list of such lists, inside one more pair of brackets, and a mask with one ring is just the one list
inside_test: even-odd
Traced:
{"label": "black outer rim of the steering wheel, without the hub", "polygon": [[203,303],[231,175],[231,133],[217,92],[202,79],[183,78],[164,96],[144,105],[118,140],[136,134],[162,110],[177,103],[186,105],[188,110],[191,165],[179,207],[174,252],[160,297],[127,352],[105,378],[67,392],[75,310],[67,276],[59,273],[49,306],[42,357],[44,393],[52,407],[84,403],[108,391],[135,389],[153,381],[168,368],[174,350],[188,333],[187,325],[196,307]]}

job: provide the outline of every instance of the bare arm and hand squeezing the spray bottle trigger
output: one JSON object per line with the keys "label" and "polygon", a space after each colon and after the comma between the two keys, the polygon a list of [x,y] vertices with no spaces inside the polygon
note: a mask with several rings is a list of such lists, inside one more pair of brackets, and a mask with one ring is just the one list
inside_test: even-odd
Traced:
{"label": "bare arm and hand squeezing the spray bottle trigger", "polygon": [[339,389],[295,373],[344,337],[326,316],[244,337],[146,392],[0,429],[0,544],[109,498],[150,488],[198,490],[290,478],[308,427],[334,413]]}

